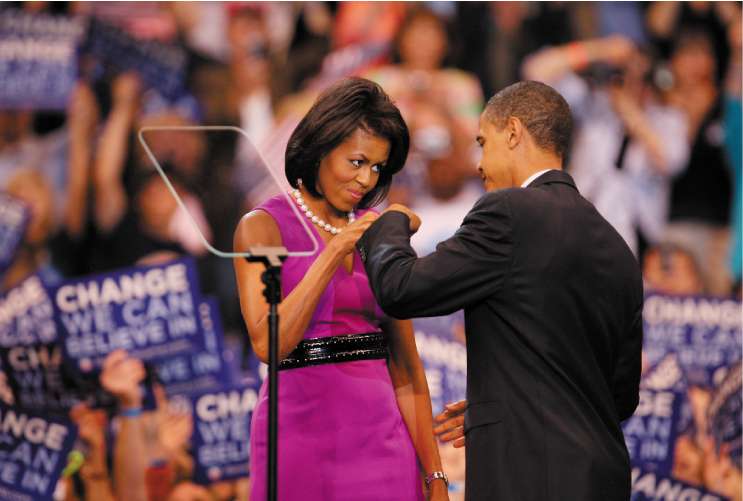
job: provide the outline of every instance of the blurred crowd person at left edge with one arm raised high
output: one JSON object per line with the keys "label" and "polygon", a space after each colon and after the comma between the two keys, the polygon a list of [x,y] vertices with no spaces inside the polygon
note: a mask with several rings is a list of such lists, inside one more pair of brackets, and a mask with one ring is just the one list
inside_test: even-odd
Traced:
{"label": "blurred crowd person at left edge with one arm raised high", "polygon": [[[45,147],[44,140],[33,138],[30,131],[23,132],[25,126],[17,123],[23,122],[21,115],[17,120],[4,115],[0,128],[7,143],[0,146],[0,189],[27,204],[30,221],[0,291],[36,272],[51,285],[79,271],[70,249],[84,245],[98,106],[90,87],[79,83],[67,109],[67,126],[59,133],[66,148],[59,150]],[[59,178],[64,182],[58,183]]]}

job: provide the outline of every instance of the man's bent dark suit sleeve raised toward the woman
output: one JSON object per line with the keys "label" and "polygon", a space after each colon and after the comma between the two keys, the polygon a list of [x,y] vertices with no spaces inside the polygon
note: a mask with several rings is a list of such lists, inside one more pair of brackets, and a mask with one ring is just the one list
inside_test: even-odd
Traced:
{"label": "man's bent dark suit sleeve raised toward the woman", "polygon": [[422,258],[410,246],[409,219],[400,212],[380,217],[357,247],[385,313],[396,318],[446,315],[503,286],[513,247],[508,199],[502,193],[484,195],[454,236]]}

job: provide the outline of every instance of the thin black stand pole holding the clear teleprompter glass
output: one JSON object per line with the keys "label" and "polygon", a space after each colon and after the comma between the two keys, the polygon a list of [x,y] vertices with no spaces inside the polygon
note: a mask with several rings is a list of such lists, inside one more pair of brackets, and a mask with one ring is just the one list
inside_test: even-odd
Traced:
{"label": "thin black stand pole holding the clear teleprompter glass", "polygon": [[250,247],[245,259],[263,263],[261,275],[263,296],[269,304],[268,313],[268,501],[277,499],[277,459],[279,420],[279,303],[281,303],[281,265],[288,252],[284,247]]}

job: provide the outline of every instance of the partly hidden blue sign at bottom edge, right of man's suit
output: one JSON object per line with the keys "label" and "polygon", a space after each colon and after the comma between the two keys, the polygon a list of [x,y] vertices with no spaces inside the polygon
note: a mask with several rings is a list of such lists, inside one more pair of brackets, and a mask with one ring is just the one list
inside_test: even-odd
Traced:
{"label": "partly hidden blue sign at bottom edge, right of man's suit", "polygon": [[689,485],[667,475],[632,468],[631,501],[727,501],[699,486]]}

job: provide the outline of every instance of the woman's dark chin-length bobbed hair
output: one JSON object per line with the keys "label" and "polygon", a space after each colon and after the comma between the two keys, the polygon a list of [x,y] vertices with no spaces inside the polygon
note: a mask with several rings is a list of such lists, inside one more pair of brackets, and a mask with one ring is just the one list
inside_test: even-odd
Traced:
{"label": "woman's dark chin-length bobbed hair", "polygon": [[317,191],[320,161],[356,129],[383,137],[390,142],[387,163],[379,173],[377,185],[359,202],[359,208],[381,202],[392,183],[392,176],[405,165],[410,146],[408,126],[400,110],[376,83],[364,78],[345,78],[325,90],[304,116],[286,147],[286,179],[298,188],[298,179],[313,196]]}

